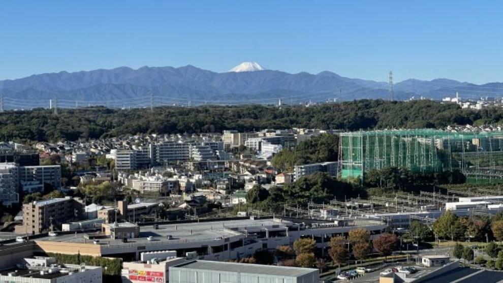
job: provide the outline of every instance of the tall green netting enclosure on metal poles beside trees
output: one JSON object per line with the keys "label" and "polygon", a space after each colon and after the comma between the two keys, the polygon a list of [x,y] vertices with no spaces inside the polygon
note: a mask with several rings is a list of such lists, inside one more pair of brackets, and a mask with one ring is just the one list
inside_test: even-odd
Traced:
{"label": "tall green netting enclosure on metal poles beside trees", "polygon": [[340,134],[338,175],[365,178],[372,169],[398,167],[413,173],[458,169],[470,182],[503,179],[503,132],[433,129]]}

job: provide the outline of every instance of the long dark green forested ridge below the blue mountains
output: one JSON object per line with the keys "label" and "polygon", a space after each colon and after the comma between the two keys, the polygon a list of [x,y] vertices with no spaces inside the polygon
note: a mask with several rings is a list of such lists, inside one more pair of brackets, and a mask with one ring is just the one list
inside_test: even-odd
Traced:
{"label": "long dark green forested ridge below the blue mountains", "polygon": [[208,133],[293,127],[343,129],[441,128],[452,124],[499,123],[503,109],[460,109],[432,101],[359,100],[311,107],[258,105],[7,111],[0,113],[0,140],[57,141],[134,134]]}

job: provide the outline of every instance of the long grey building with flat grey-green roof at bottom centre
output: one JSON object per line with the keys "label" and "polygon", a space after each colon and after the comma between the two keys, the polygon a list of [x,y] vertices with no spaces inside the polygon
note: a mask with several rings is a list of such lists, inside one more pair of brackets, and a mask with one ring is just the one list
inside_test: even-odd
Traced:
{"label": "long grey building with flat grey-green roof at bottom centre", "polygon": [[[203,279],[204,278],[204,279]],[[318,269],[231,262],[192,261],[169,268],[170,283],[318,283]]]}

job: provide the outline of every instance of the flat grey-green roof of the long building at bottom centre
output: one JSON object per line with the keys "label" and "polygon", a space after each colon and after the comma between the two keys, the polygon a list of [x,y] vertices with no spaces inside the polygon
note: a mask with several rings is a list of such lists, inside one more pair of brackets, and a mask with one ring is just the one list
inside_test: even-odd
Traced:
{"label": "flat grey-green roof of the long building at bottom centre", "polygon": [[217,261],[193,261],[177,265],[174,267],[211,270],[211,271],[224,271],[224,272],[240,272],[249,274],[264,274],[264,275],[274,275],[283,277],[298,277],[318,271],[318,269],[313,268],[299,268],[299,267],[272,266],[272,265],[261,265],[261,264],[217,262]]}

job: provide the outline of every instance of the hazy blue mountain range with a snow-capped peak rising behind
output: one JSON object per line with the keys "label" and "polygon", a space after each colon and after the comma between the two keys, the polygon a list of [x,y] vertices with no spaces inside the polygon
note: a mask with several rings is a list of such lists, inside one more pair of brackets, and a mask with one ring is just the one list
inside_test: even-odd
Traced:
{"label": "hazy blue mountain range with a snow-capped peak rising behind", "polygon": [[[188,65],[120,67],[111,70],[59,72],[0,81],[5,108],[47,107],[57,96],[59,107],[104,105],[142,107],[178,104],[286,104],[342,100],[387,99],[388,83],[341,77],[324,71],[319,74],[290,74],[262,70],[255,62],[245,62],[226,73],[216,73]],[[253,72],[252,72],[253,71]],[[408,79],[393,85],[397,100],[426,97],[462,99],[503,97],[503,83],[483,85],[448,79],[421,81]]]}

